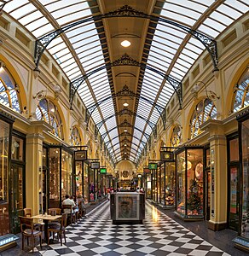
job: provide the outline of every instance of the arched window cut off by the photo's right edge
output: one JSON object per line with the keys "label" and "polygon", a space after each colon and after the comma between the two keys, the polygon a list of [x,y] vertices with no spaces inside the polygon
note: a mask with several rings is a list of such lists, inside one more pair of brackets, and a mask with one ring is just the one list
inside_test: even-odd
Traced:
{"label": "arched window cut off by the photo's right edge", "polygon": [[246,68],[234,89],[232,112],[238,112],[249,105],[249,67]]}

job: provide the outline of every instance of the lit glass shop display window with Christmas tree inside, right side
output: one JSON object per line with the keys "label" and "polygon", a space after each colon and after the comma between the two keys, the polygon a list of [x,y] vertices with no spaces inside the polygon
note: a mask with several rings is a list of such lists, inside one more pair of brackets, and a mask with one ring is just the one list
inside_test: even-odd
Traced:
{"label": "lit glass shop display window with Christmas tree inside, right side", "polygon": [[184,220],[204,218],[203,148],[185,146],[176,151],[177,214]]}

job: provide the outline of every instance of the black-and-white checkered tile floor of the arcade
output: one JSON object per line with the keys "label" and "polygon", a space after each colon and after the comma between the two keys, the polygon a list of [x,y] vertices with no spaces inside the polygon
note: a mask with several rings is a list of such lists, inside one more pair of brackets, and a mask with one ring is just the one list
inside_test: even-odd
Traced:
{"label": "black-and-white checkered tile floor of the arcade", "polygon": [[[229,255],[184,228],[150,204],[143,224],[115,225],[110,219],[109,201],[87,217],[67,227],[67,243],[37,247],[37,253],[55,255]],[[35,254],[37,254],[35,253]]]}

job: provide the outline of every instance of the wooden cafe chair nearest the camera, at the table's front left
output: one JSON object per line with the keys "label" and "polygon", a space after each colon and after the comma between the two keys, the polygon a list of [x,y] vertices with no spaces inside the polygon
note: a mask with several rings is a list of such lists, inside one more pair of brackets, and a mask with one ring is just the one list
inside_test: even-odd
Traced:
{"label": "wooden cafe chair nearest the camera, at the table's front left", "polygon": [[35,238],[39,236],[40,238],[40,246],[42,249],[42,236],[43,236],[43,231],[42,230],[35,230],[34,229],[34,223],[33,223],[33,218],[28,218],[28,217],[22,217],[19,216],[20,218],[20,232],[22,236],[22,250],[24,249],[24,239],[27,239],[27,245],[28,244],[28,239],[29,237],[32,240],[32,252],[34,251],[35,247]]}

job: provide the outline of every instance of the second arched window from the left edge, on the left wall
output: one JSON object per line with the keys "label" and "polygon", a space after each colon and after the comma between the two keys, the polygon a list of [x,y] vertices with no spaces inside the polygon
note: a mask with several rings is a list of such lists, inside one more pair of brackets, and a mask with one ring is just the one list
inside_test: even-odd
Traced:
{"label": "second arched window from the left edge, on the left wall", "polygon": [[53,126],[53,130],[50,132],[52,132],[56,137],[64,139],[61,117],[53,102],[49,101],[49,99],[40,100],[36,110],[36,115],[38,120],[44,120],[49,125]]}

